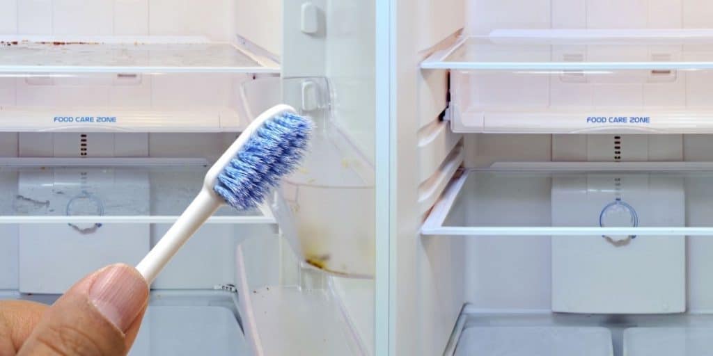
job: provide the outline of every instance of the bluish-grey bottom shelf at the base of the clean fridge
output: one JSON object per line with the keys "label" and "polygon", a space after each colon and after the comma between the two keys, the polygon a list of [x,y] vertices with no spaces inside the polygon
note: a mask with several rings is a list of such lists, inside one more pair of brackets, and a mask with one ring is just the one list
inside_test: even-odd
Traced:
{"label": "bluish-grey bottom shelf at the base of the clean fridge", "polygon": [[443,355],[708,355],[713,315],[554,314],[466,305]]}

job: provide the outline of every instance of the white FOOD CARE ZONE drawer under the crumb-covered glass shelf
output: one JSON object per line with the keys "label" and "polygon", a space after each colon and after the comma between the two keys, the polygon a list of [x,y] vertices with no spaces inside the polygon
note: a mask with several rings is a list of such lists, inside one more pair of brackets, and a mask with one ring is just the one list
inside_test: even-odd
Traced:
{"label": "white FOOD CARE ZONE drawer under the crumb-covered glass shelf", "polygon": [[[127,68],[129,70],[129,68]],[[239,132],[252,77],[217,73],[0,73],[0,131]]]}

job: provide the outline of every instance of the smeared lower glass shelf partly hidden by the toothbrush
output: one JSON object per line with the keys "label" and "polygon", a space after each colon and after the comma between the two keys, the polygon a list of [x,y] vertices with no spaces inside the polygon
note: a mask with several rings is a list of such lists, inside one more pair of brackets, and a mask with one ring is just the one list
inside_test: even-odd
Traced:
{"label": "smeared lower glass shelf partly hidden by the toothbrush", "polygon": [[[202,159],[0,159],[0,224],[172,223],[202,187]],[[274,224],[220,208],[212,224]]]}

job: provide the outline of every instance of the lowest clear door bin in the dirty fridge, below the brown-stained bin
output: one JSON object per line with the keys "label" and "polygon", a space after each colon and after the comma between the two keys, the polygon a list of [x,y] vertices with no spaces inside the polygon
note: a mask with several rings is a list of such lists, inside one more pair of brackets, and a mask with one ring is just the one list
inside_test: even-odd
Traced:
{"label": "lowest clear door bin in the dirty fridge, below the brown-stained bin", "polygon": [[366,315],[371,281],[324,273],[285,237],[237,246],[236,286],[251,355],[371,355],[364,341],[373,325]]}

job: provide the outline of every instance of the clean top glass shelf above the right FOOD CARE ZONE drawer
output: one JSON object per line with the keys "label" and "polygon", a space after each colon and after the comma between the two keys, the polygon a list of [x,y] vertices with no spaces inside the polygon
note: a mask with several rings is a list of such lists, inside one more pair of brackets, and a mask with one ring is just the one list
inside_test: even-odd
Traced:
{"label": "clean top glass shelf above the right FOOD CARE ZONE drawer", "polygon": [[421,63],[451,70],[713,68],[710,30],[498,30],[464,37]]}

